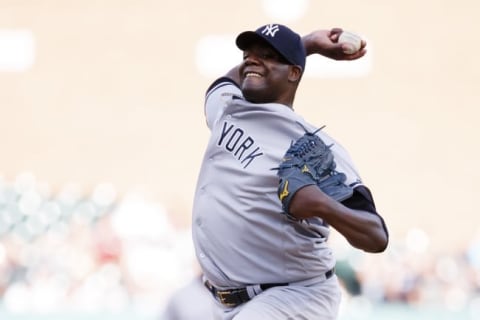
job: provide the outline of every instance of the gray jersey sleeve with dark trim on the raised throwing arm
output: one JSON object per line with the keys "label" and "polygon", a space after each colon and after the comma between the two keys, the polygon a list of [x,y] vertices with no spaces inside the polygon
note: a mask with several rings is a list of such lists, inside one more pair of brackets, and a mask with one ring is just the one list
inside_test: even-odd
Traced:
{"label": "gray jersey sleeve with dark trim on the raised throwing arm", "polygon": [[234,96],[242,97],[242,92],[230,78],[217,79],[210,85],[205,95],[205,119],[208,128],[212,129],[213,125],[220,119],[227,103]]}

